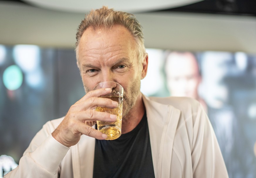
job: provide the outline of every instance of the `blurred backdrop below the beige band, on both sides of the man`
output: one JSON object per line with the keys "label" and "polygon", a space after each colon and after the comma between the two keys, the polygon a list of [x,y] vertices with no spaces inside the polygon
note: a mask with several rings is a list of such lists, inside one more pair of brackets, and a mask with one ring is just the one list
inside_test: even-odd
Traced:
{"label": "blurred backdrop below the beige band, on both sides of the man", "polygon": [[[229,177],[255,178],[256,54],[147,52],[148,74],[141,91],[147,96],[197,99],[216,133]],[[64,116],[84,94],[73,49],[0,45],[2,173],[17,166],[45,122]]]}

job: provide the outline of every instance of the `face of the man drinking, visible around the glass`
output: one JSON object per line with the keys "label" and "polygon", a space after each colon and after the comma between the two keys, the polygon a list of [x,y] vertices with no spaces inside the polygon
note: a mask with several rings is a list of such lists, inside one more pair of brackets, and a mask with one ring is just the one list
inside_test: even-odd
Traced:
{"label": "face of the man drinking, visible around the glass", "polygon": [[79,42],[79,67],[85,91],[100,82],[113,81],[124,88],[123,116],[140,93],[142,64],[138,62],[134,37],[121,25],[110,30],[85,30]]}

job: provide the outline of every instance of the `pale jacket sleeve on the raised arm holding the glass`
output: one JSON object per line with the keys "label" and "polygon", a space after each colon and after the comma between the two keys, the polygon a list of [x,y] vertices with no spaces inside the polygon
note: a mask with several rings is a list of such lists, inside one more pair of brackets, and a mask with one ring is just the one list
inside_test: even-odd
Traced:
{"label": "pale jacket sleeve on the raised arm holding the glass", "polygon": [[18,167],[6,174],[4,178],[58,177],[59,165],[69,148],[52,137],[53,130],[52,123],[47,122],[32,139]]}

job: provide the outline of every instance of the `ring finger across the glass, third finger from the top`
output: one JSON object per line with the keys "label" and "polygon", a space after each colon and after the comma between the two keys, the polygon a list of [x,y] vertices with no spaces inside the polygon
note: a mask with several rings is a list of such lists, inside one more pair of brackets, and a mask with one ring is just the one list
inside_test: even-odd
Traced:
{"label": "ring finger across the glass, third finger from the top", "polygon": [[82,122],[91,122],[96,120],[103,121],[103,122],[115,122],[117,119],[117,116],[115,114],[99,112],[95,110],[78,112],[78,113],[75,113],[74,116]]}

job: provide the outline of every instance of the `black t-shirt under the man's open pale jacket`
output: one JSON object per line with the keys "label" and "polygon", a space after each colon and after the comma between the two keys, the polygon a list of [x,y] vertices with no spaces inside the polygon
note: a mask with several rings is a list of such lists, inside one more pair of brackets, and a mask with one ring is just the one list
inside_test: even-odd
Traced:
{"label": "black t-shirt under the man's open pale jacket", "polygon": [[131,132],[95,143],[93,178],[155,178],[146,113]]}

